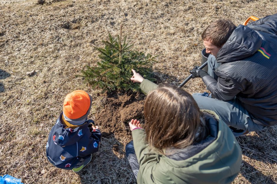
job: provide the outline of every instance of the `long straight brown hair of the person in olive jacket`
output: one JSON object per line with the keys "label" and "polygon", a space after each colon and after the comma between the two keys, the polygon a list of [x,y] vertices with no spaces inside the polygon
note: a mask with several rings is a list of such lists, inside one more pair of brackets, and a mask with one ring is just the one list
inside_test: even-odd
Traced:
{"label": "long straight brown hair of the person in olive jacket", "polygon": [[163,153],[165,148],[185,148],[195,139],[202,112],[192,96],[181,88],[163,85],[151,91],[144,101],[146,141]]}

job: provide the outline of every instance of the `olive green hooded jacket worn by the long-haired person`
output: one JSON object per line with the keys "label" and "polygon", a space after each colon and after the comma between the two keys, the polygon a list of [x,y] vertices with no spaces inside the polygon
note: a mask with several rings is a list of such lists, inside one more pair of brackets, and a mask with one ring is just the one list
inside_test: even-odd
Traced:
{"label": "olive green hooded jacket worn by the long-haired person", "polygon": [[[140,87],[149,93],[157,88],[157,85],[144,79]],[[242,161],[240,146],[230,128],[215,112],[205,111],[205,113],[213,115],[213,117],[207,115],[210,117],[207,121],[217,126],[214,131],[216,136],[200,152],[186,159],[178,159],[178,153],[175,158],[157,154],[145,142],[143,129],[132,131],[134,148],[140,165],[138,183],[224,184],[231,183],[235,179]],[[198,145],[202,146],[202,143]],[[186,154],[187,151],[189,152],[190,149],[180,152]]]}

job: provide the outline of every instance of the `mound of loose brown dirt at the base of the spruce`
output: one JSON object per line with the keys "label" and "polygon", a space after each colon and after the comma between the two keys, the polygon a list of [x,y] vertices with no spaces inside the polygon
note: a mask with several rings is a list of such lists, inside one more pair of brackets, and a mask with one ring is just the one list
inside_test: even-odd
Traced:
{"label": "mound of loose brown dirt at the base of the spruce", "polygon": [[135,94],[107,96],[104,108],[95,114],[95,122],[101,126],[103,137],[119,134],[131,136],[128,122],[141,119],[143,116],[143,100]]}

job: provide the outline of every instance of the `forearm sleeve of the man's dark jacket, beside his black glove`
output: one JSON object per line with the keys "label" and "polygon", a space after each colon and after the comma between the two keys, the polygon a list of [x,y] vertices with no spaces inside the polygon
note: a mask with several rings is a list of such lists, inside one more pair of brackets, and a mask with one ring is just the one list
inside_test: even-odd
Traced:
{"label": "forearm sleeve of the man's dark jacket, beside his black glove", "polygon": [[232,100],[243,90],[237,81],[226,76],[224,73],[215,71],[215,74],[218,76],[218,81],[211,76],[204,76],[202,80],[207,86],[207,89],[210,90],[217,99],[223,101]]}

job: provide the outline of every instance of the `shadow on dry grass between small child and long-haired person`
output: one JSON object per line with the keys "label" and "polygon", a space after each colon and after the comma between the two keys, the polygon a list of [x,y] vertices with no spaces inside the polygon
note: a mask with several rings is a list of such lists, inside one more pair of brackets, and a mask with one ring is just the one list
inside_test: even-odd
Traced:
{"label": "shadow on dry grass between small child and long-haired person", "polygon": [[94,153],[91,163],[78,173],[82,184],[136,183],[121,142],[113,135],[101,138],[99,152]]}

